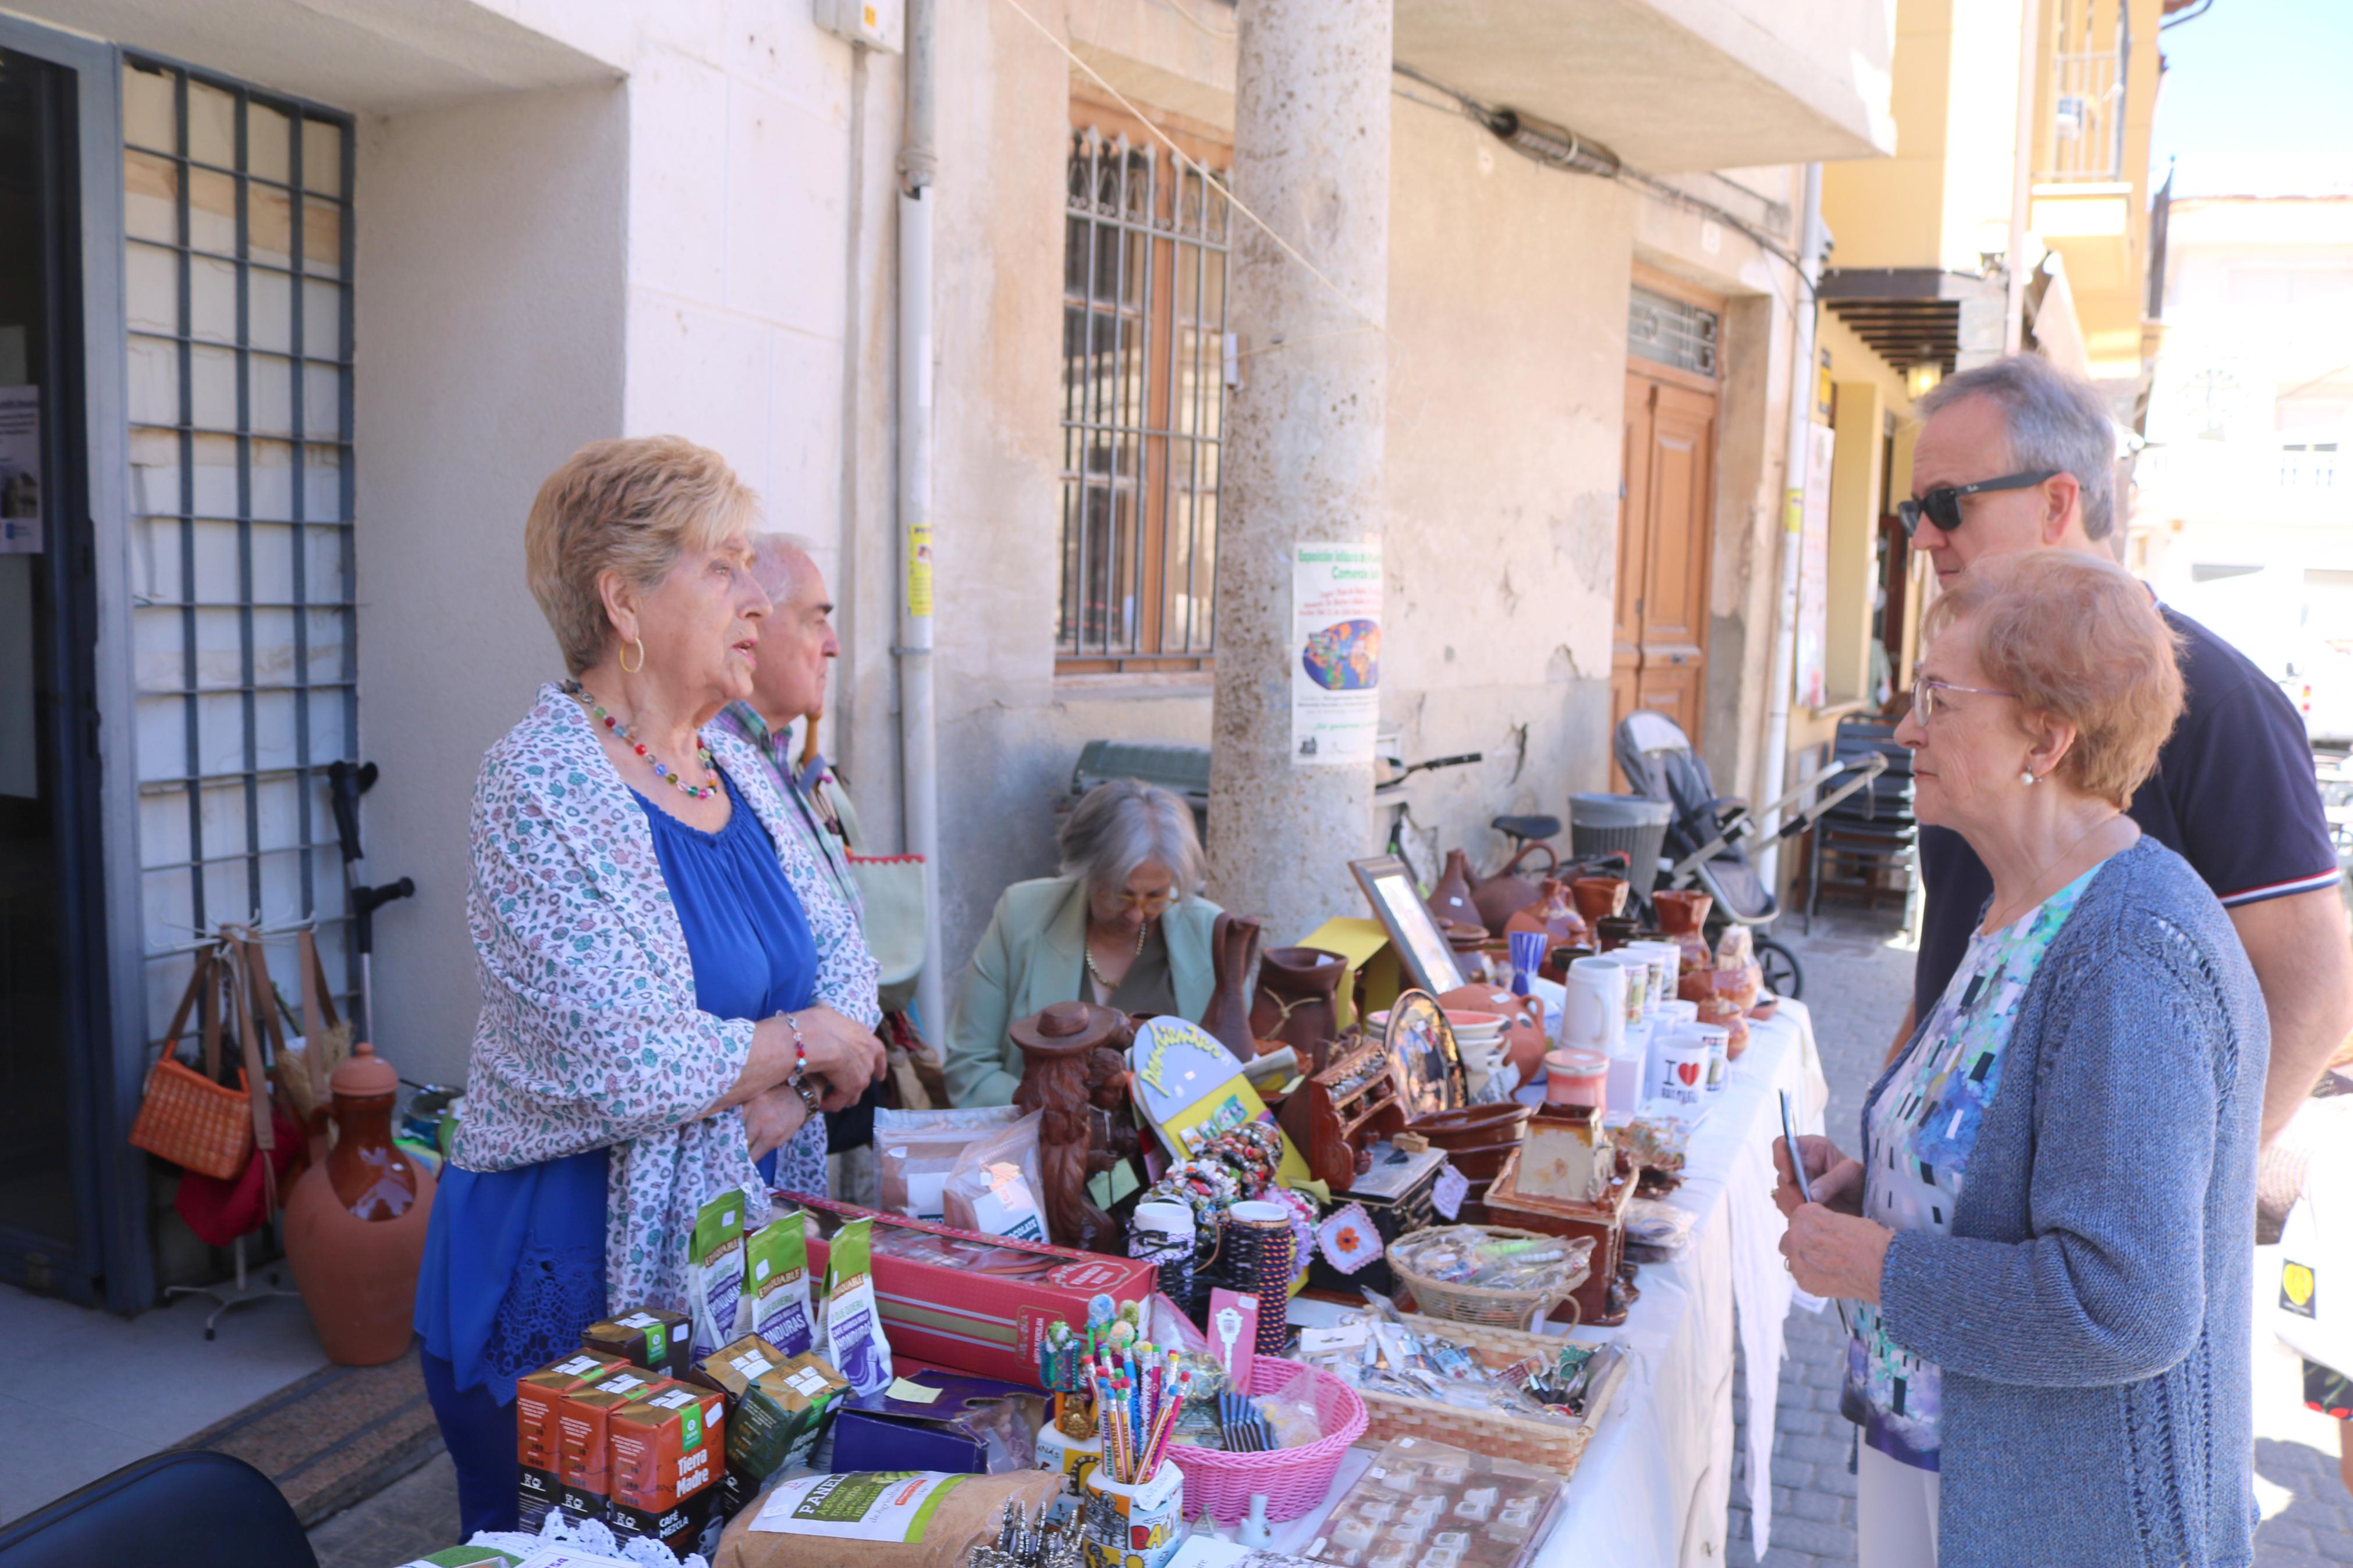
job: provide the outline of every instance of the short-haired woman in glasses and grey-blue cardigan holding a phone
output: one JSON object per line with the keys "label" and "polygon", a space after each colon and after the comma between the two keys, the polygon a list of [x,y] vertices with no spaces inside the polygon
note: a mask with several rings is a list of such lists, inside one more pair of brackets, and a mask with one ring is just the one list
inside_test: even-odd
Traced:
{"label": "short-haired woman in glasses and grey-blue cardigan holding a phone", "polygon": [[1915,811],[1993,898],[1871,1088],[1864,1154],[1777,1147],[1781,1251],[1857,1302],[1871,1568],[2247,1563],[2254,1152],[2268,1025],[2205,882],[2125,802],[2181,712],[2106,559],[1977,559],[1927,614]]}

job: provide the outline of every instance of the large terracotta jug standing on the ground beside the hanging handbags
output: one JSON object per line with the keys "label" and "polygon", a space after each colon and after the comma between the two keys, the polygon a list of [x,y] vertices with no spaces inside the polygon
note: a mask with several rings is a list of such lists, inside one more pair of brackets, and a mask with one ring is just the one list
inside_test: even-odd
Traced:
{"label": "large terracotta jug standing on the ground beside the hanging handbags", "polygon": [[393,1143],[400,1074],[374,1046],[353,1046],[327,1088],[334,1150],[287,1199],[287,1262],[327,1359],[381,1366],[409,1347],[433,1173]]}

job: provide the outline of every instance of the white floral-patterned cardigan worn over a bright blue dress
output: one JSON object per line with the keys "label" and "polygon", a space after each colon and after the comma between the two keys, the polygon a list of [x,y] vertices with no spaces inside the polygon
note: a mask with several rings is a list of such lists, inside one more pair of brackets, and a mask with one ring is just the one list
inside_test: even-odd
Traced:
{"label": "white floral-patterned cardigan worn over a bright blue dress", "polygon": [[[816,940],[816,999],[873,1027],[875,961],[802,846],[791,806],[736,736],[704,743],[784,863]],[[694,964],[645,811],[560,686],[482,757],[466,891],[482,1016],[454,1159],[508,1171],[609,1147],[605,1284],[614,1302],[685,1302],[694,1211],[722,1187],[767,1215],[734,1086],[753,1023],[694,1006]]]}

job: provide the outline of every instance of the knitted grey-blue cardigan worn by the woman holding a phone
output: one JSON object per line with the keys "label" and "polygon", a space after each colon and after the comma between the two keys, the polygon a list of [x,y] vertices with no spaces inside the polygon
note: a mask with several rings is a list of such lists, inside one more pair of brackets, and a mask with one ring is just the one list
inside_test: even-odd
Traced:
{"label": "knitted grey-blue cardigan worn by the woman holding a phone", "polygon": [[1887,1333],[1944,1368],[1944,1568],[2252,1561],[2268,1056],[2207,886],[2148,837],[2111,858],[2026,987],[1953,1234],[1897,1232],[1880,1272]]}

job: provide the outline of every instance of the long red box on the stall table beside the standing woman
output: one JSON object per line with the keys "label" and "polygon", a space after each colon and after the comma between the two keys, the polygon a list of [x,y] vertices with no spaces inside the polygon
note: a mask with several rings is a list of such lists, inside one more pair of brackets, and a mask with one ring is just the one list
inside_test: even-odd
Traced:
{"label": "long red box on the stall table beside the standing woman", "polygon": [[[873,1220],[875,1302],[892,1352],[953,1373],[1038,1387],[1047,1324],[1085,1333],[1089,1298],[1151,1300],[1158,1276],[1134,1258],[984,1237],[798,1192],[781,1197],[816,1215],[826,1234],[842,1220]],[[809,1276],[824,1272],[826,1244],[809,1241]]]}

